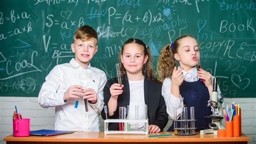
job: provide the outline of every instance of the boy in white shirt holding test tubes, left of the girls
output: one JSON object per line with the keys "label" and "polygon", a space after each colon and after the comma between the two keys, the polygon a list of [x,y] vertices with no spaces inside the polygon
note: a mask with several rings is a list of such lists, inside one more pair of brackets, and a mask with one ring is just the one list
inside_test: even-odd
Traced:
{"label": "boy in white shirt holding test tubes, left of the girls", "polygon": [[106,75],[90,65],[97,42],[97,32],[91,26],[78,28],[71,44],[75,59],[55,66],[45,78],[38,102],[44,108],[55,107],[56,130],[99,131]]}

